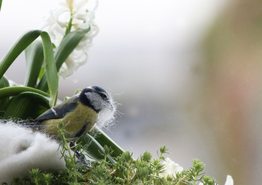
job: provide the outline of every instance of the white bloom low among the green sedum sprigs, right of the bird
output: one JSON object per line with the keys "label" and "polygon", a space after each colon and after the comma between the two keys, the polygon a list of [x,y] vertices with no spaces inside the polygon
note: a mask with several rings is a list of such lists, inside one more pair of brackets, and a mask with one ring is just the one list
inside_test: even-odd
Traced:
{"label": "white bloom low among the green sedum sprigs, right of the bird", "polygon": [[164,173],[159,173],[160,177],[165,177],[167,178],[167,176],[171,176],[172,175],[174,177],[176,177],[176,173],[177,172],[182,172],[183,171],[183,167],[179,166],[179,164],[175,163],[174,161],[172,161],[169,157],[166,158],[166,161],[163,162],[164,165]]}

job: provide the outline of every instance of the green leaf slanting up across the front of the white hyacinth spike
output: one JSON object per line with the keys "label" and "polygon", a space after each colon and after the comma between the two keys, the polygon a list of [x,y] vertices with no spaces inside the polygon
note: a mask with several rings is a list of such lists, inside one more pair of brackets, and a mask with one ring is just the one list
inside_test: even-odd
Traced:
{"label": "green leaf slanting up across the front of the white hyacinth spike", "polygon": [[[67,57],[73,52],[73,50],[77,47],[78,43],[81,41],[81,39],[90,31],[89,29],[78,29],[75,31],[70,32],[67,34],[60,45],[57,47],[56,51],[54,52],[54,59],[56,61],[56,69],[57,72],[61,68],[64,61],[67,59]],[[42,91],[47,92],[48,86],[46,81],[46,74],[43,75],[41,78],[37,89],[40,89]]]}

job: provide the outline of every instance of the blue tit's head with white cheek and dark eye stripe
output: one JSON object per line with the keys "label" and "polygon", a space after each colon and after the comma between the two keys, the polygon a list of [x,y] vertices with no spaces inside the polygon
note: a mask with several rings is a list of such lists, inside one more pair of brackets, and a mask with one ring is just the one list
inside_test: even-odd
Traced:
{"label": "blue tit's head with white cheek and dark eye stripe", "polygon": [[79,95],[79,101],[99,113],[103,108],[113,108],[112,97],[109,92],[99,86],[84,88]]}

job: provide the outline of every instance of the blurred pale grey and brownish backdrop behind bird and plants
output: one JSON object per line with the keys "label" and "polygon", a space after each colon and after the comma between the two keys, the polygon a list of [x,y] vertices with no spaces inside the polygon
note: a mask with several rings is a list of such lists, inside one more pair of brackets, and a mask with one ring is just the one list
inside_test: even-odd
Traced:
{"label": "blurred pale grey and brownish backdrop behind bird and plants", "polygon": [[[3,1],[0,56],[38,28],[58,1]],[[85,66],[59,81],[59,98],[99,85],[122,106],[110,137],[136,158],[165,144],[224,184],[260,184],[262,2],[99,1],[100,32]],[[6,75],[23,84],[24,53]]]}

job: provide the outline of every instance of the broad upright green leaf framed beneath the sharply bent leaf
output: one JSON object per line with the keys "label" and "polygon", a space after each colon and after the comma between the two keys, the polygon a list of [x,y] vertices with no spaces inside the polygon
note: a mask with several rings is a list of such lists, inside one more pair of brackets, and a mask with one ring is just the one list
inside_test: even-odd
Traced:
{"label": "broad upright green leaf framed beneath the sharply bent leaf", "polygon": [[24,85],[35,87],[44,60],[43,43],[41,40],[35,40],[25,49],[25,60],[27,72]]}

